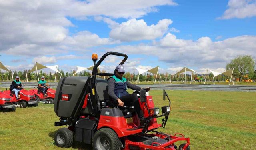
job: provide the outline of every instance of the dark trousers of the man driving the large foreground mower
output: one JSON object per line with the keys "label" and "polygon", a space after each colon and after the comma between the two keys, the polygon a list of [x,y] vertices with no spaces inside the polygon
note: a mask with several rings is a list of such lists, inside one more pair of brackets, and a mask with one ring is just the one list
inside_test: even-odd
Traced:
{"label": "dark trousers of the man driving the large foreground mower", "polygon": [[125,106],[134,106],[135,111],[137,112],[140,119],[144,117],[143,111],[140,108],[140,102],[138,100],[137,94],[133,93],[133,94],[124,95],[120,97],[120,100],[124,102]]}

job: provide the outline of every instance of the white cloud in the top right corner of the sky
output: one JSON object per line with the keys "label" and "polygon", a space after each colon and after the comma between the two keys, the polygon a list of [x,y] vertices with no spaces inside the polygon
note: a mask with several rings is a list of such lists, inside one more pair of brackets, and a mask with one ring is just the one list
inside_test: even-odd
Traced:
{"label": "white cloud in the top right corner of the sky", "polygon": [[230,0],[228,9],[218,19],[247,18],[256,16],[255,0]]}

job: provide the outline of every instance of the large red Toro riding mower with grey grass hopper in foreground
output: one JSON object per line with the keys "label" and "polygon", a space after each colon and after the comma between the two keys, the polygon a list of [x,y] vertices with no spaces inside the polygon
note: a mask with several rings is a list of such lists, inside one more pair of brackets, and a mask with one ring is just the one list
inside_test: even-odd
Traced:
{"label": "large red Toro riding mower with grey grass hopper in foreground", "polygon": [[[168,106],[154,107],[152,96],[146,96],[146,89],[135,91],[139,94],[140,106],[147,118],[140,124],[138,115],[131,106],[119,107],[110,101],[106,80],[99,76],[112,76],[110,73],[98,73],[97,67],[108,55],[123,56],[120,64],[127,59],[126,54],[107,52],[96,63],[97,55],[92,55],[94,68],[90,77],[61,78],[56,89],[54,111],[60,117],[55,126],[66,125],[56,131],[54,141],[57,146],[70,147],[74,141],[92,144],[94,150],[177,150],[177,141],[186,141],[179,150],[190,150],[190,139],[183,134],[174,136],[156,131],[165,127],[170,113]],[[111,103],[112,102],[112,103]],[[157,118],[162,118],[162,124]],[[150,133],[149,133],[150,132]]]}

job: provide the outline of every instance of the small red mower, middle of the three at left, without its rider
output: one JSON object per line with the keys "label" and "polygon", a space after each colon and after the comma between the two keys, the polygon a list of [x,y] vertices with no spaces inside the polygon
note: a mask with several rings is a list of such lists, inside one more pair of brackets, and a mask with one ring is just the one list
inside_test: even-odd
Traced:
{"label": "small red mower, middle of the three at left, without its rider", "polygon": [[20,92],[18,92],[18,99],[16,98],[15,93],[11,90],[7,91],[6,89],[5,93],[12,96],[11,101],[17,107],[20,106],[21,108],[26,108],[27,106],[38,106],[38,101],[36,101],[35,94],[29,92],[28,90],[24,90],[23,86],[20,88]]}

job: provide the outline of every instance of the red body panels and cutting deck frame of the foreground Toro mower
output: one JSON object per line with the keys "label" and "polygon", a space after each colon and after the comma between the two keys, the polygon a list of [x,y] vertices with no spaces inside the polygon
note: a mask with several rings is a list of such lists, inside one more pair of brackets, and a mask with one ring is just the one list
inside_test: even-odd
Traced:
{"label": "red body panels and cutting deck frame of the foreground Toro mower", "polygon": [[[86,100],[87,98],[85,98],[85,102]],[[140,106],[144,112],[144,117],[150,116],[148,110],[154,108],[154,102],[153,102],[152,96],[147,96],[146,105],[145,105],[145,102],[142,102],[140,103]],[[154,150],[176,150],[174,148],[174,143],[177,141],[186,141],[186,144],[183,147],[183,150],[186,150],[187,146],[190,144],[190,138],[185,138],[184,135],[180,133],[176,133],[174,134],[174,136],[162,134],[158,132],[156,132],[156,134],[151,134],[154,136],[158,136],[159,138],[162,138],[162,139],[170,137],[171,140],[164,144],[154,142],[151,145],[148,145],[148,144],[144,144],[143,142],[130,141],[128,140],[127,136],[132,134],[141,134],[143,132],[143,128],[138,128],[138,116],[134,115],[132,116],[132,119],[133,119],[133,122],[128,123],[126,118],[124,118],[123,116],[122,117],[100,116],[97,130],[104,127],[111,128],[112,130],[114,130],[119,138],[124,138],[124,141],[125,141],[124,150],[130,150],[129,148],[130,146],[135,146],[136,148],[140,148],[140,150],[146,150],[147,148],[154,149]],[[159,127],[162,127],[162,124],[158,124],[156,118],[153,118],[150,121],[147,131],[152,131]],[[176,136],[176,135],[180,135],[180,136]]]}

